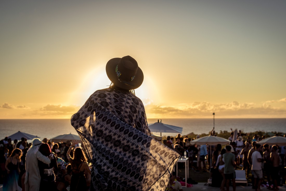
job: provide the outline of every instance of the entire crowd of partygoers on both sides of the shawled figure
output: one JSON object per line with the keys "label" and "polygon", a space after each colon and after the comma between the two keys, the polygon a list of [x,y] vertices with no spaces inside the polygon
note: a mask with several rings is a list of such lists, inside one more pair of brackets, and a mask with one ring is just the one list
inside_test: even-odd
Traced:
{"label": "entire crowd of partygoers on both sides of the shawled figure", "polygon": [[[231,142],[224,148],[221,144],[192,144],[194,139],[180,134],[168,136],[162,142],[181,156],[189,157],[189,167],[194,172],[204,173],[208,170],[212,186],[220,187],[221,190],[225,187],[229,190],[229,185],[235,190],[235,170],[238,166],[245,170],[247,178],[252,174],[253,189],[260,190],[265,175],[268,188],[278,190],[279,171],[285,166],[285,146],[260,145],[257,142],[265,137],[259,138],[258,135],[253,139],[247,137],[245,141],[243,134],[238,133],[236,140],[233,136],[232,132],[229,137]],[[90,161],[78,142],[51,143],[44,138],[42,141],[34,139],[32,143],[27,143],[23,137],[21,141],[14,140],[12,143],[11,139],[5,137],[0,141],[0,155],[0,183],[3,184],[3,190],[67,190],[68,186],[70,190],[89,190]],[[197,161],[196,165],[194,161]],[[173,173],[169,189],[182,189],[176,178]]]}

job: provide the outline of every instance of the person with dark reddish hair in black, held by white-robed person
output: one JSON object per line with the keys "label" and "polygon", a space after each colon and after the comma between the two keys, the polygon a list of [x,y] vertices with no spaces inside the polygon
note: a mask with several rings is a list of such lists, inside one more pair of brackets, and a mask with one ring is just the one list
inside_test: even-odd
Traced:
{"label": "person with dark reddish hair in black, held by white-robed person", "polygon": [[51,151],[51,147],[47,143],[41,144],[39,147],[40,153],[44,156],[52,156],[51,163],[45,164],[38,160],[39,170],[41,175],[40,190],[54,190],[55,189],[55,174],[53,168],[58,168],[57,159]]}

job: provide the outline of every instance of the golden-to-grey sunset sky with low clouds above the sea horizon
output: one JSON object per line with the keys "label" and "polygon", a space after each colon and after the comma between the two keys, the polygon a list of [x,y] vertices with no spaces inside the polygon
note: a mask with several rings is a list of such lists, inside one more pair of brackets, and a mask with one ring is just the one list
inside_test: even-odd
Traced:
{"label": "golden-to-grey sunset sky with low clouds above the sea horizon", "polygon": [[0,119],[70,118],[130,55],[148,118],[286,117],[286,1],[0,1]]}

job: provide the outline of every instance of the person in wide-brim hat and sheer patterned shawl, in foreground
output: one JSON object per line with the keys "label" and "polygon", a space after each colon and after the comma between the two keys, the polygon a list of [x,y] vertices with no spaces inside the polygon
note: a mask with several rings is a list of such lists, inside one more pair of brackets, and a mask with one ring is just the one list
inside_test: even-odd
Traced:
{"label": "person in wide-brim hat and sheer patterned shawl, in foreground", "polygon": [[165,190],[180,155],[150,137],[134,91],[141,68],[131,56],[112,58],[106,74],[109,88],[95,91],[71,117],[92,161],[91,190]]}

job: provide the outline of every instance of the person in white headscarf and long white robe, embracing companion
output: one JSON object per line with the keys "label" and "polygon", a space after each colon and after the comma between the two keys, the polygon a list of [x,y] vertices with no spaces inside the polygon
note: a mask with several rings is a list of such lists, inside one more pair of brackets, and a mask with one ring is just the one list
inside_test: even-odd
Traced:
{"label": "person in white headscarf and long white robe, embracing companion", "polygon": [[32,147],[29,148],[26,155],[26,175],[25,175],[25,191],[40,190],[40,170],[38,160],[45,163],[51,163],[51,157],[46,157],[39,151],[42,141],[39,138],[32,140]]}

